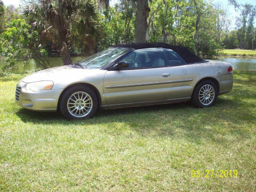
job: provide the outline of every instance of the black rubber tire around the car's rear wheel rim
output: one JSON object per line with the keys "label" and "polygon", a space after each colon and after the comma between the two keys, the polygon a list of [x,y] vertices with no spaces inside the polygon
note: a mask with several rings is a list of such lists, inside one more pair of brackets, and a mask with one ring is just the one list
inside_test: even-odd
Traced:
{"label": "black rubber tire around the car's rear wheel rim", "polygon": [[[202,94],[202,93],[203,93],[203,90],[205,89],[205,87],[210,87],[209,90],[214,90],[214,95],[212,94],[213,92],[211,92],[210,97],[206,96],[204,98],[204,94]],[[200,91],[201,98],[199,98],[199,91]],[[206,93],[205,93],[205,95],[209,95],[209,92],[208,92],[208,94],[206,94]],[[211,80],[203,80],[202,82],[200,82],[199,84],[196,85],[193,95],[191,97],[191,103],[197,108],[211,107],[217,100],[217,97],[218,97],[217,85]],[[209,98],[209,99],[206,99],[206,98]],[[211,99],[211,101],[210,101],[210,99]],[[209,100],[209,102],[207,102],[208,100]],[[205,101],[205,103],[203,101]]]}

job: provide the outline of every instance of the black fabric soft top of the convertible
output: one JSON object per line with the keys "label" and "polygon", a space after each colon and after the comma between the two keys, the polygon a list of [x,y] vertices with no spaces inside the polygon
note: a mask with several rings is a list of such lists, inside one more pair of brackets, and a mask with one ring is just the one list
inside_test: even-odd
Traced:
{"label": "black fabric soft top of the convertible", "polygon": [[199,58],[197,55],[191,53],[187,49],[187,47],[177,46],[177,45],[174,46],[174,45],[169,45],[167,43],[131,43],[131,44],[119,44],[119,45],[115,45],[114,47],[129,47],[135,50],[153,48],[153,47],[163,47],[163,48],[172,49],[173,51],[177,52],[188,63],[204,61],[203,59]]}

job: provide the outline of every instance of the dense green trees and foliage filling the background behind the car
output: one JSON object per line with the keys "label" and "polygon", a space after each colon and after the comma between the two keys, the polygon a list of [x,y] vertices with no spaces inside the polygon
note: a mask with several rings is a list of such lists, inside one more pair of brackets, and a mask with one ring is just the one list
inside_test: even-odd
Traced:
{"label": "dense green trees and foliage filling the background behind the car", "polygon": [[255,47],[255,6],[229,2],[241,10],[233,31],[226,11],[206,0],[28,0],[19,9],[0,0],[0,55],[10,66],[34,58],[46,68],[49,56],[69,65],[73,55],[122,43],[165,42],[198,55]]}

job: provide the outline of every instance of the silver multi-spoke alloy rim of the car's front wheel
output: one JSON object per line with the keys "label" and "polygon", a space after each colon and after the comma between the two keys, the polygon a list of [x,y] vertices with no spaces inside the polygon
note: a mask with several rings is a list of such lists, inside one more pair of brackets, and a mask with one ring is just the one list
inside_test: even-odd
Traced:
{"label": "silver multi-spoke alloy rim of the car's front wheel", "polygon": [[91,96],[83,91],[71,94],[67,102],[68,112],[74,117],[85,117],[91,112],[92,105]]}

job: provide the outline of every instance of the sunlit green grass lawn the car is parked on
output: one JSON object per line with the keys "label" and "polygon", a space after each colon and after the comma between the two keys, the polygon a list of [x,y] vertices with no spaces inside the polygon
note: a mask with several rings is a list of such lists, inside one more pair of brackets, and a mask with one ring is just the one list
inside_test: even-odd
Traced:
{"label": "sunlit green grass lawn the car is parked on", "polygon": [[[0,77],[2,191],[256,191],[256,72],[234,71],[211,108],[101,111],[85,121],[14,103],[24,75]],[[191,170],[237,170],[192,178]]]}

